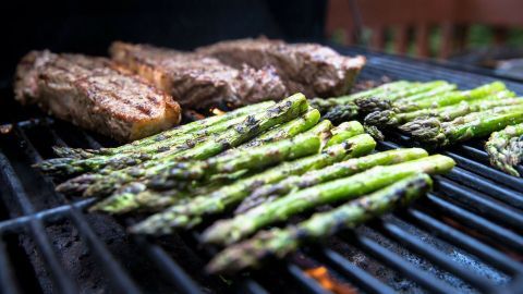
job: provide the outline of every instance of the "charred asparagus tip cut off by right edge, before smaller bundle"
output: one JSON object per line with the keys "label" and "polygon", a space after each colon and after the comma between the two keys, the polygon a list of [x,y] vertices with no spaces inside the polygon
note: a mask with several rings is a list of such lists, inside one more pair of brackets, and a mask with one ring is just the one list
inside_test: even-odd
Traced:
{"label": "charred asparagus tip cut off by right edge, before smaller bundle", "polygon": [[490,164],[509,174],[520,176],[514,167],[521,162],[521,158],[518,160],[519,157],[515,156],[516,160],[513,160],[511,157],[511,155],[518,155],[515,150],[519,148],[516,147],[518,144],[511,144],[511,139],[520,140],[521,136],[523,136],[523,123],[509,125],[499,132],[494,132],[485,144],[485,150],[490,158]]}

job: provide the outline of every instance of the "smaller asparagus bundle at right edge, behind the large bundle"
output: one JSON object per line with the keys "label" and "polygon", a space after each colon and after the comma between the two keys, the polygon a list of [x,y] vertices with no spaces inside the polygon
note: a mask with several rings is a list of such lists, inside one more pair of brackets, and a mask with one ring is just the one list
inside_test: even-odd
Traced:
{"label": "smaller asparagus bundle at right edge, behind the large bundle", "polygon": [[[485,137],[523,122],[523,99],[500,82],[458,90],[443,81],[398,81],[350,96],[315,99],[313,105],[331,120],[358,115],[374,133],[397,128],[436,148]],[[492,135],[494,142],[486,149],[494,167],[518,175],[514,167],[521,162],[521,135],[520,126]]]}

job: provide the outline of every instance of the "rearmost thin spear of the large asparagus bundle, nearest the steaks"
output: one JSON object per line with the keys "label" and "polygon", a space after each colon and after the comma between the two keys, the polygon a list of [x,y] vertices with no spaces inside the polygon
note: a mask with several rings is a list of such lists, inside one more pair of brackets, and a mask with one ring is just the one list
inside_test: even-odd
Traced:
{"label": "rearmost thin spear of the large asparagus bundle, nearest the steaks", "polygon": [[252,114],[253,112],[263,111],[273,106],[273,101],[264,101],[255,105],[245,106],[236,110],[227,112],[222,115],[210,117],[200,121],[195,121],[178,127],[165,131],[154,136],[149,136],[143,139],[132,142],[115,148],[100,148],[100,149],[81,149],[81,148],[70,148],[70,147],[54,147],[54,152],[59,157],[69,157],[69,158],[89,158],[97,155],[118,155],[121,152],[134,151],[136,148],[145,147],[149,144],[156,144],[158,142],[167,140],[170,138],[175,138],[180,135],[192,134],[205,130],[207,127],[228,122],[236,118],[244,118]]}

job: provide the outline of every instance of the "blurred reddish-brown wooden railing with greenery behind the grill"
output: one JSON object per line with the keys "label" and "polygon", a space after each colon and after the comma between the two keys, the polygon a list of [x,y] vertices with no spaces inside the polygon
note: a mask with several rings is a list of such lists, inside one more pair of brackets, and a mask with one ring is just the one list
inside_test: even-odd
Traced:
{"label": "blurred reddish-brown wooden railing with greenery behind the grill", "polygon": [[494,69],[523,78],[521,0],[329,0],[340,45]]}

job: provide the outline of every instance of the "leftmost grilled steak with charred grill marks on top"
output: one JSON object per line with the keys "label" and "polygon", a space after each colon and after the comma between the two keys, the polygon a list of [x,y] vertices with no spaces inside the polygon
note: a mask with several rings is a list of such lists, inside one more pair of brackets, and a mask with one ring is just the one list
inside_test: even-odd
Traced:
{"label": "leftmost grilled steak with charred grill marks on top", "polygon": [[180,106],[112,61],[33,51],[16,69],[15,98],[119,140],[142,138],[180,122]]}

